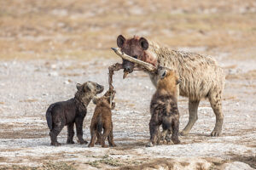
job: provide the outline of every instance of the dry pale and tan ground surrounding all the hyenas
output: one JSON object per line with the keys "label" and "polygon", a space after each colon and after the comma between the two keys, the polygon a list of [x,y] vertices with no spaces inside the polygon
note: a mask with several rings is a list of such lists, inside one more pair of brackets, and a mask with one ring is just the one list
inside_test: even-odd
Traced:
{"label": "dry pale and tan ground surrounding all the hyenas", "polygon": [[[0,169],[253,169],[256,168],[256,3],[243,1],[1,1]],[[45,111],[70,99],[77,82],[108,88],[109,48],[119,34],[170,48],[209,54],[226,73],[223,135],[211,138],[215,117],[207,100],[181,144],[146,148],[154,87],[134,71],[113,77],[115,148],[49,145]],[[90,104],[84,139],[90,140]],[[189,119],[179,98],[180,128]]]}

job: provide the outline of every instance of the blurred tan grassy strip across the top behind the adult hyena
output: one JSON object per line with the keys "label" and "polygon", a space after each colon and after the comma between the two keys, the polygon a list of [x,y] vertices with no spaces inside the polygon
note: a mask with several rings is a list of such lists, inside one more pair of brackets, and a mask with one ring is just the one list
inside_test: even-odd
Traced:
{"label": "blurred tan grassy strip across the top behind the adult hyena", "polygon": [[116,57],[116,37],[255,59],[255,0],[1,0],[1,59]]}

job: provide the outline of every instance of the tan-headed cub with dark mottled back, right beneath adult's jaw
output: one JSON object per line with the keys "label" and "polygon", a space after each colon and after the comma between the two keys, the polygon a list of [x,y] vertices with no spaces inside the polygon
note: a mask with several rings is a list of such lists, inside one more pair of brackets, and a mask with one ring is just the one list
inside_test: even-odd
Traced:
{"label": "tan-headed cub with dark mottled back, right beneath adult's jaw", "polygon": [[172,131],[174,144],[180,143],[178,139],[179,113],[177,110],[177,84],[180,80],[177,79],[174,71],[164,69],[159,69],[158,76],[160,78],[150,104],[150,139],[146,145],[148,147],[159,144],[160,125],[162,125],[163,134],[166,135],[167,132]]}

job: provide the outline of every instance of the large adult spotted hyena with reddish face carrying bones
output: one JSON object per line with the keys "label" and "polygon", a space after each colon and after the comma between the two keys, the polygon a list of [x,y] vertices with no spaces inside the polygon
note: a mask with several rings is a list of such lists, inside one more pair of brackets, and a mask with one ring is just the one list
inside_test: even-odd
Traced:
{"label": "large adult spotted hyena with reddish face carrying bones", "polygon": [[[189,133],[197,120],[197,110],[202,98],[208,98],[216,116],[215,127],[211,136],[219,136],[223,126],[221,97],[224,89],[224,71],[215,59],[200,54],[185,53],[162,47],[154,42],[148,42],[144,37],[125,39],[122,35],[117,38],[121,51],[133,58],[143,60],[156,67],[171,68],[181,79],[179,94],[189,98],[189,122],[181,132]],[[139,65],[123,60],[125,72],[131,73]],[[156,86],[158,77],[149,73]]]}

